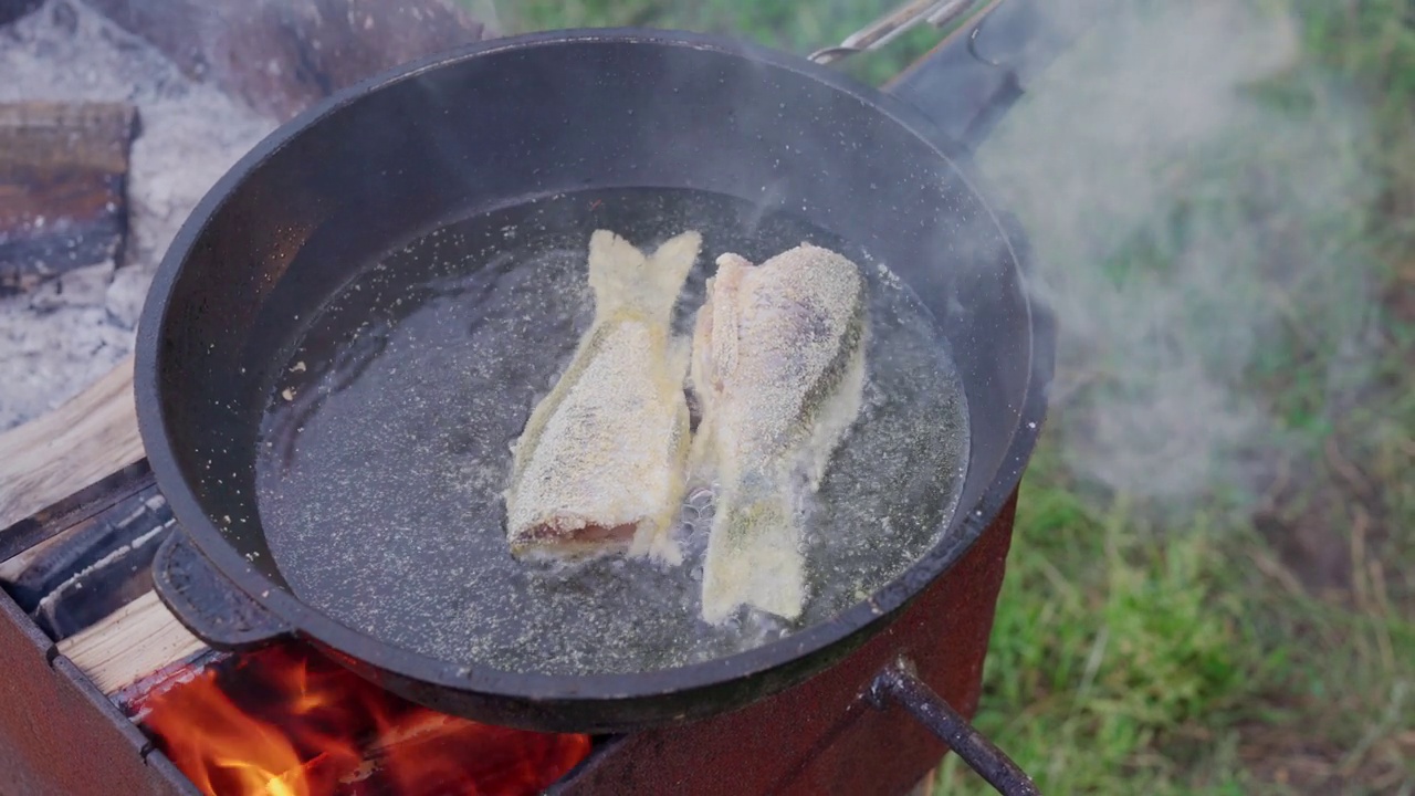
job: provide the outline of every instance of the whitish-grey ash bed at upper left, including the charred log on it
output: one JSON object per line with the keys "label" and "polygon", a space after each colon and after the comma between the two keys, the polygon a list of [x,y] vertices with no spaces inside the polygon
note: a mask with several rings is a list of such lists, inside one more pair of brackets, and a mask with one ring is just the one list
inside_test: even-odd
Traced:
{"label": "whitish-grey ash bed at upper left, including the charred log on it", "polygon": [[273,122],[71,0],[0,27],[0,75],[4,429],[132,353],[177,228]]}

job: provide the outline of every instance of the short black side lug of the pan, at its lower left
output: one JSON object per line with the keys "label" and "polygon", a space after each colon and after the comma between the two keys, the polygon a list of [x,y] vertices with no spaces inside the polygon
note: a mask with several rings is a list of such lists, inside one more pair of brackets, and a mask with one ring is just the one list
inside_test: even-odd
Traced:
{"label": "short black side lug of the pan, at its lower left", "polygon": [[153,586],[184,627],[218,650],[249,649],[293,632],[218,572],[181,527],[157,548]]}

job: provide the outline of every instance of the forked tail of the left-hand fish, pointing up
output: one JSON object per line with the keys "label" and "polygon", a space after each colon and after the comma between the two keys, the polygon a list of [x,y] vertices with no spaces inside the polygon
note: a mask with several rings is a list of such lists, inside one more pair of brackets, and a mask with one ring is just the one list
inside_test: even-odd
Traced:
{"label": "forked tail of the left-hand fish, pointing up", "polygon": [[645,256],[620,235],[596,229],[590,237],[596,314],[628,310],[666,320],[700,249],[702,235],[683,232]]}

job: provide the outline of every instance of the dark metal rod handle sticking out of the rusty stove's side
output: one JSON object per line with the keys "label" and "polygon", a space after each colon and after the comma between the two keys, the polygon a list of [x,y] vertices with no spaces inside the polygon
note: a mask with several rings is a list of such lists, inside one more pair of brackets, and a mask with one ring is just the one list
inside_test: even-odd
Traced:
{"label": "dark metal rod handle sticking out of the rusty stove's side", "polygon": [[874,676],[869,700],[879,710],[899,705],[962,758],[968,768],[1005,796],[1039,796],[1032,778],[1012,758],[974,729],[968,720],[918,678],[914,664],[900,659]]}

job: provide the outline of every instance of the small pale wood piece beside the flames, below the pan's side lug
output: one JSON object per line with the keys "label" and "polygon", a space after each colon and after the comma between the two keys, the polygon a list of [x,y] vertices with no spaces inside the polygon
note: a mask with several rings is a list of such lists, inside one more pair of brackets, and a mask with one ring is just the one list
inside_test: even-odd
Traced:
{"label": "small pale wood piece beside the flames, below the pan's side lug", "polygon": [[58,647],[105,694],[208,649],[177,622],[157,592],[144,593]]}

